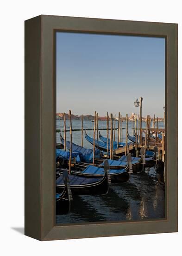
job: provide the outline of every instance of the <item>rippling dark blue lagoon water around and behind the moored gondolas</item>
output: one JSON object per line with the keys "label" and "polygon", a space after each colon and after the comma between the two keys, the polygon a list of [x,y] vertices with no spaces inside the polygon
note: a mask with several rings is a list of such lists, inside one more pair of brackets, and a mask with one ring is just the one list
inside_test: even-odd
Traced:
{"label": "rippling dark blue lagoon water around and behind the moored gondolas", "polygon": [[[69,128],[69,121],[66,124]],[[116,122],[116,127],[118,122]],[[142,125],[145,127],[145,123]],[[84,128],[94,127],[91,121],[84,121]],[[105,128],[106,121],[99,121],[99,127]],[[123,128],[126,122],[123,123]],[[159,122],[159,128],[163,123]],[[56,121],[56,129],[63,130],[63,121]],[[81,128],[81,121],[72,121],[72,128]],[[87,131],[93,136],[93,131]],[[101,130],[102,135],[107,131]],[[129,133],[132,135],[132,122],[129,122]],[[63,135],[63,132],[62,132]],[[69,132],[66,133],[69,140]],[[123,140],[126,130],[123,130]],[[81,131],[72,133],[72,140],[81,145]],[[117,131],[116,139],[117,140]],[[56,133],[56,142],[60,142],[60,133]],[[84,138],[84,147],[92,145]],[[112,183],[107,195],[75,195],[71,202],[71,211],[67,215],[56,216],[56,223],[82,223],[100,221],[144,220],[165,217],[163,175],[155,168],[145,169],[143,173],[132,174],[128,182]]]}

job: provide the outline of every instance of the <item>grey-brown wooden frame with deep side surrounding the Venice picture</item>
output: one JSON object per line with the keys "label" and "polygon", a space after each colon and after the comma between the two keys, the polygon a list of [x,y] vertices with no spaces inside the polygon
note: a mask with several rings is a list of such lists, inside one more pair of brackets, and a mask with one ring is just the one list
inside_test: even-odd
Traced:
{"label": "grey-brown wooden frame with deep side surrounding the Venice picture", "polygon": [[[166,218],[55,224],[55,32],[166,40]],[[40,15],[25,21],[25,235],[38,240],[177,231],[177,24]]]}

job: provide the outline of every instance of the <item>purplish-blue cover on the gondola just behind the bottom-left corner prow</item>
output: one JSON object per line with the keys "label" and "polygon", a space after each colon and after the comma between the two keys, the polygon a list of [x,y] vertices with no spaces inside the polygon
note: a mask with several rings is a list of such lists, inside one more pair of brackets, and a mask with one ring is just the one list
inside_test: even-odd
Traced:
{"label": "purplish-blue cover on the gondola just behind the bottom-left corner prow", "polygon": [[[99,182],[100,180],[101,180],[101,178],[85,178],[85,177],[80,177],[80,176],[69,174],[69,183],[71,186],[86,185],[86,184],[90,184],[90,183]],[[63,175],[61,175],[56,180],[56,185],[64,185]]]}

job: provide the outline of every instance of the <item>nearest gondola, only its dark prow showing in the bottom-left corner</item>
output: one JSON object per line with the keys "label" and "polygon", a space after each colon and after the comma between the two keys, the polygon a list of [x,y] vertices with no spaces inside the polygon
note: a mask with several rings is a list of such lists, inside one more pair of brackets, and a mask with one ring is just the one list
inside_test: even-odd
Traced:
{"label": "nearest gondola, only its dark prow showing in the bottom-left corner", "polygon": [[63,172],[63,177],[63,192],[56,193],[56,215],[68,214],[71,207],[72,195],[69,187],[68,173]]}

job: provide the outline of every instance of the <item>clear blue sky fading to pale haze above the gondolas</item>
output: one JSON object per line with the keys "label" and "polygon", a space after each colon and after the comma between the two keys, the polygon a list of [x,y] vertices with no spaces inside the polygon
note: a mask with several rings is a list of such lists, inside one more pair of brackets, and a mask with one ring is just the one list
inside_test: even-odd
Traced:
{"label": "clear blue sky fading to pale haze above the gondolas", "polygon": [[136,112],[163,117],[163,38],[56,33],[56,113],[100,116]]}

